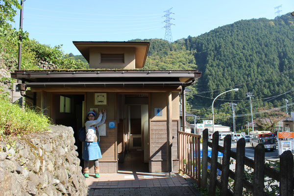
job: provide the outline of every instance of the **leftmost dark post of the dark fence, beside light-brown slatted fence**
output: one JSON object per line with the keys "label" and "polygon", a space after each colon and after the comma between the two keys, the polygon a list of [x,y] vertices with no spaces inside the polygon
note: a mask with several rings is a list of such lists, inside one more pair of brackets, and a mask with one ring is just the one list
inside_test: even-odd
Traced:
{"label": "leftmost dark post of the dark fence, beside light-brown slatted fence", "polygon": [[201,187],[206,189],[207,187],[207,157],[208,157],[208,129],[204,129],[202,139],[202,179],[201,179]]}

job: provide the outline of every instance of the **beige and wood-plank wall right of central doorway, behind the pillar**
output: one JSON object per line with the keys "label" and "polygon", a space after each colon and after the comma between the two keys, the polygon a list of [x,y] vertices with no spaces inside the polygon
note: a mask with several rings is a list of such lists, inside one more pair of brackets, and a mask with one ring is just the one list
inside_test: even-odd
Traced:
{"label": "beige and wood-plank wall right of central doorway, behind the pillar", "polygon": [[[155,116],[154,108],[162,108],[162,116]],[[150,94],[150,159],[149,172],[167,172],[167,93]],[[179,93],[172,93],[172,160],[178,171]]]}

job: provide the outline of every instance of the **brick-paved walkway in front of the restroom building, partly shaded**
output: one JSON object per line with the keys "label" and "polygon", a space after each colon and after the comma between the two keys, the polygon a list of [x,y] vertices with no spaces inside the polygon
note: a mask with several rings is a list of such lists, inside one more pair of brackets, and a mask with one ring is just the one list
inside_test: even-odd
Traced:
{"label": "brick-paved walkway in front of the restroom building, partly shaded", "polygon": [[[188,177],[188,179],[190,179]],[[86,178],[89,196],[199,196],[178,173],[125,172],[90,174]]]}

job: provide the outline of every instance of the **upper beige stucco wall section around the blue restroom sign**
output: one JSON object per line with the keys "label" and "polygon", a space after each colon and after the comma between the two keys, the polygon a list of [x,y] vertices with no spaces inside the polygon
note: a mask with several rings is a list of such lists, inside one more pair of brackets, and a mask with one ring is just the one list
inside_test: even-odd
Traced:
{"label": "upper beige stucco wall section around the blue restroom sign", "polygon": [[[172,93],[172,120],[179,120],[179,93]],[[162,116],[154,116],[154,108],[162,108]],[[167,93],[150,94],[151,121],[167,120]]]}

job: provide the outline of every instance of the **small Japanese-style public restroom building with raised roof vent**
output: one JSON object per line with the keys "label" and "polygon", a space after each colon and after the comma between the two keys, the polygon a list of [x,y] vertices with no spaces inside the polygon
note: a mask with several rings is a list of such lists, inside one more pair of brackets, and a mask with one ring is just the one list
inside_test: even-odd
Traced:
{"label": "small Japanese-style public restroom building with raised roof vent", "polygon": [[[118,172],[127,151],[142,154],[149,172],[179,170],[180,94],[201,76],[197,70],[144,70],[149,42],[73,42],[88,70],[18,70],[28,106],[37,106],[54,124],[77,132],[89,110],[107,111],[101,126],[101,173]],[[29,89],[28,89],[29,87]],[[185,101],[185,97],[183,98]],[[183,111],[185,111],[184,105]],[[169,145],[169,148],[167,146]],[[94,171],[94,167],[90,172]]]}

